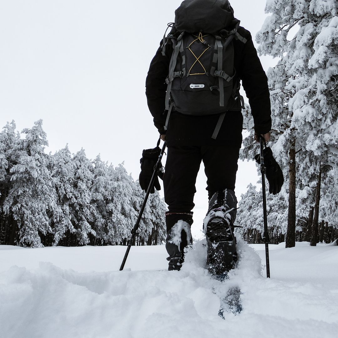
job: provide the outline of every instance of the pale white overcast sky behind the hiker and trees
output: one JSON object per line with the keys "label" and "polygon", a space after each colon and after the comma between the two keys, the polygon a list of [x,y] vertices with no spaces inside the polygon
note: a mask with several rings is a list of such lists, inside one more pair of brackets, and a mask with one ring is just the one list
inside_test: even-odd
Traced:
{"label": "pale white overcast sky behind the hiker and trees", "polygon": [[[142,149],[156,145],[145,78],[180,0],[10,0],[0,2],[0,126],[43,119],[49,147],[83,147],[88,158],[125,168],[136,179]],[[253,37],[265,0],[232,0]],[[261,57],[265,70],[276,60]],[[201,167],[202,169],[202,167]],[[206,178],[196,183],[197,208],[207,208]],[[256,183],[253,162],[239,163],[236,194]],[[163,194],[163,190],[161,191]]]}

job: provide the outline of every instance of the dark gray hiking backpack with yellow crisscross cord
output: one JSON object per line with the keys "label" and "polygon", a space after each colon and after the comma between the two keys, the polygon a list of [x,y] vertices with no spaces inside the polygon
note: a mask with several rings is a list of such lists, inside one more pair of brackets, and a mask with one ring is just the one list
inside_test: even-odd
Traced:
{"label": "dark gray hiking backpack with yellow crisscross cord", "polygon": [[[173,46],[166,94],[167,129],[173,107],[187,115],[220,114],[212,138],[216,139],[231,97],[239,95],[233,83],[234,46],[232,40],[246,43],[238,32],[239,20],[227,0],[185,0],[175,11],[175,23],[162,45]],[[234,27],[227,30],[226,27]]]}

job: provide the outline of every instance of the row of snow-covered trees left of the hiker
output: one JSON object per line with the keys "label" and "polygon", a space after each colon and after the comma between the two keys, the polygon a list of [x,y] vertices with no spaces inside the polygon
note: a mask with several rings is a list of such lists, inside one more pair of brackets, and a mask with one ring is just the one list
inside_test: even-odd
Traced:
{"label": "row of snow-covered trees left of the hiker", "polygon": [[[22,131],[13,122],[0,132],[0,244],[126,244],[144,192],[122,164],[89,160],[68,147],[46,154],[42,120]],[[149,196],[136,245],[165,239],[166,205],[156,191]]]}

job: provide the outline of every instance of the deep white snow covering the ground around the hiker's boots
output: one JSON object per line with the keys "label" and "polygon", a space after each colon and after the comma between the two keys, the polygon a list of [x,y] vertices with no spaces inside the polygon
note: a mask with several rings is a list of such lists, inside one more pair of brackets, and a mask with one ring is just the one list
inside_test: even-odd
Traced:
{"label": "deep white snow covering the ground around the hiker's boots", "polygon": [[[166,271],[165,246],[0,246],[1,337],[336,337],[338,247],[239,241],[230,279],[204,269],[205,240],[182,270]],[[241,288],[243,311],[218,316],[219,297]],[[212,290],[214,289],[214,293]]]}

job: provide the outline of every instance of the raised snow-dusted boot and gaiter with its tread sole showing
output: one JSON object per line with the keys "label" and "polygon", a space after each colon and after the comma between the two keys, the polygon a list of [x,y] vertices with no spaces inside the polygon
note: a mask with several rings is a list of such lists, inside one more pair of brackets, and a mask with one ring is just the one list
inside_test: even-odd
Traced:
{"label": "raised snow-dusted boot and gaiter with its tread sole showing", "polygon": [[209,201],[209,210],[203,226],[207,237],[207,267],[211,274],[222,275],[237,262],[234,221],[237,199],[234,191],[215,193]]}

